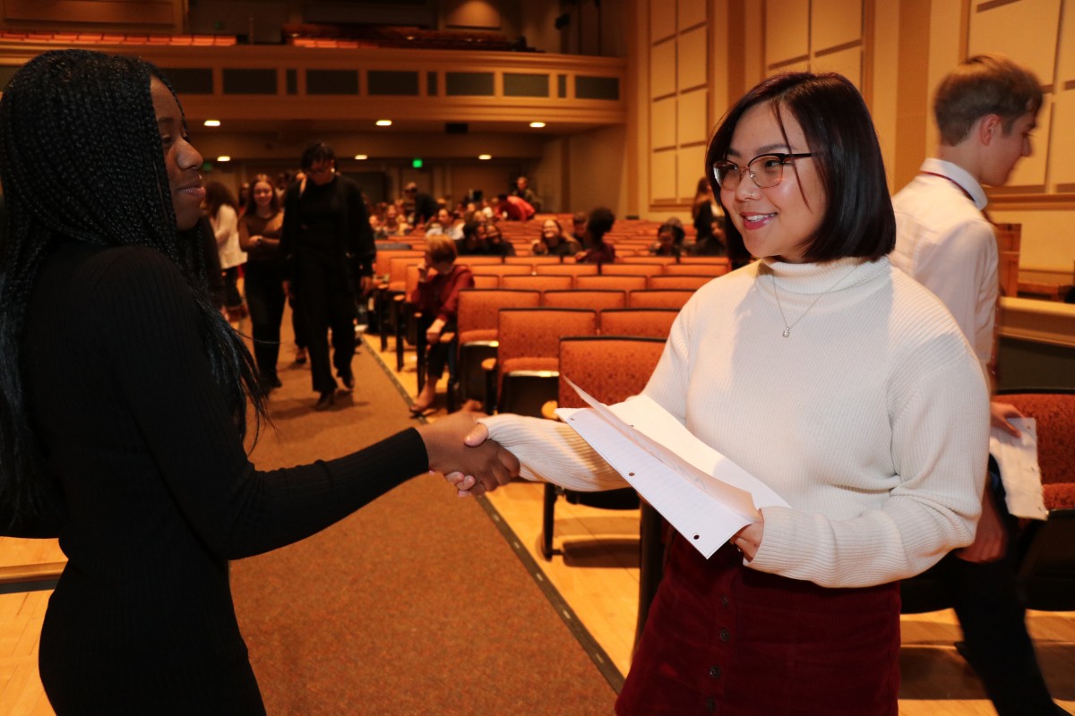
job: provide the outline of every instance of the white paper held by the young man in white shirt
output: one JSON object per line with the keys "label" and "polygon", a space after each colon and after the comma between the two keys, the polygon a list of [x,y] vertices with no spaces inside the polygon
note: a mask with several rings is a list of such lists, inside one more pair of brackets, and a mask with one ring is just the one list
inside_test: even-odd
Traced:
{"label": "white paper held by the young man in white shirt", "polygon": [[1020,437],[995,427],[989,435],[989,454],[1001,468],[1008,512],[1017,517],[1045,520],[1049,511],[1045,509],[1042,470],[1037,466],[1037,423],[1033,418],[1013,418],[1012,424],[1019,428]]}

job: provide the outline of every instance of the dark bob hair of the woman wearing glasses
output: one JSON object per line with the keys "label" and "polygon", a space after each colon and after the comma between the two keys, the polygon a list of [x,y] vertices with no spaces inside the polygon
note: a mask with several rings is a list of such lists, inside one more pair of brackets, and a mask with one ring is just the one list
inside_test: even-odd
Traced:
{"label": "dark bob hair of the woman wearing glasses", "polygon": [[[843,75],[777,74],[729,109],[705,152],[705,176],[714,196],[720,200],[713,163],[727,158],[735,126],[757,104],[772,106],[782,132],[785,132],[784,117],[794,118],[817,163],[826,209],[821,224],[804,242],[803,260],[820,262],[856,257],[873,261],[889,253],[895,246],[895,216],[885,178],[885,162],[870,111],[859,90]],[[784,138],[787,141],[786,132]],[[794,171],[794,164],[788,169]],[[743,180],[750,178],[744,176]],[[730,214],[728,207],[725,210]],[[726,231],[730,245],[743,243],[733,222],[728,222]]]}

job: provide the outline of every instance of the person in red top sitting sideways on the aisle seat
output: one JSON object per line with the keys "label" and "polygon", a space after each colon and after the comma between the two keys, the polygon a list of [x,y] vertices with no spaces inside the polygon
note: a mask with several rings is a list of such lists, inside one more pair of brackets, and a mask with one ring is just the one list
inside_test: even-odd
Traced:
{"label": "person in red top sitting sideways on the aisle seat", "polygon": [[436,399],[436,383],[448,362],[448,346],[441,342],[441,334],[456,330],[459,292],[474,288],[474,275],[467,266],[456,265],[457,255],[456,243],[450,237],[427,236],[426,258],[418,264],[418,286],[408,296],[421,311],[421,328],[429,346],[426,385],[411,406],[415,415],[429,410]]}

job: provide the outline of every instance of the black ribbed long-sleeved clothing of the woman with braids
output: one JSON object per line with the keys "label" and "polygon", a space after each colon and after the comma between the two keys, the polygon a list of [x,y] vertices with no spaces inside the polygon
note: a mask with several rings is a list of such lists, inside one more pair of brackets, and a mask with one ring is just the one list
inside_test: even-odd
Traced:
{"label": "black ribbed long-sleeved clothing of the woman with braids", "polygon": [[40,652],[57,713],[260,713],[228,560],[313,535],[425,471],[421,438],[255,469],[186,281],[147,248],[58,248],[25,341],[31,417],[69,514]]}

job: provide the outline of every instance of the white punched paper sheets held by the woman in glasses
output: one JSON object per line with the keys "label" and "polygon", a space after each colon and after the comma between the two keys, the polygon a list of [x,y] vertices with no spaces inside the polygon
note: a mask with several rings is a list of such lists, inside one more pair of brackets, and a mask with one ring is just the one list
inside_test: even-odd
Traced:
{"label": "white punched paper sheets held by the woman in glasses", "polygon": [[787,502],[708,447],[645,395],[605,406],[564,379],[591,408],[556,411],[704,556]]}

